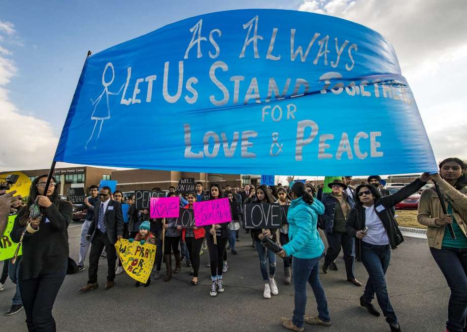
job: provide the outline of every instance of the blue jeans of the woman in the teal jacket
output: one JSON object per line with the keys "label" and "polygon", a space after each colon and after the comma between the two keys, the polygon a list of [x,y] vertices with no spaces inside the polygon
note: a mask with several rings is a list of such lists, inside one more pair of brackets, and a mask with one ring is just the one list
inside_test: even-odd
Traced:
{"label": "blue jeans of the woman in the teal jacket", "polygon": [[292,323],[303,327],[303,316],[307,305],[307,281],[313,289],[316,303],[318,305],[318,317],[322,321],[330,321],[327,310],[327,300],[323,286],[319,281],[319,260],[321,256],[312,259],[301,259],[293,257],[293,287],[295,289],[295,309],[293,310]]}

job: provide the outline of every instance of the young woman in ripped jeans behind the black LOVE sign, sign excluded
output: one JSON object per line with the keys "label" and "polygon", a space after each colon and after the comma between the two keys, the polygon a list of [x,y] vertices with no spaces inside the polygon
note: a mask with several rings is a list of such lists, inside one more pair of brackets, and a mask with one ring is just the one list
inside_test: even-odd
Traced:
{"label": "young woman in ripped jeans behind the black LOVE sign, sign excluded", "polygon": [[[245,200],[245,204],[253,203],[275,203],[276,199],[274,199],[266,185],[261,185],[256,187],[256,198],[252,199],[248,197]],[[276,276],[276,254],[266,249],[263,245],[261,245],[261,240],[265,237],[269,237],[274,242],[277,241],[276,230],[275,229],[252,229],[251,235],[255,241],[256,251],[258,251],[259,257],[259,268],[261,270],[261,275],[264,282],[264,291],[263,297],[265,299],[271,299],[271,293],[273,295],[279,294],[279,289],[277,288],[276,280],[274,277]],[[266,263],[269,261],[269,271],[268,266]],[[269,272],[269,274],[268,274]]]}

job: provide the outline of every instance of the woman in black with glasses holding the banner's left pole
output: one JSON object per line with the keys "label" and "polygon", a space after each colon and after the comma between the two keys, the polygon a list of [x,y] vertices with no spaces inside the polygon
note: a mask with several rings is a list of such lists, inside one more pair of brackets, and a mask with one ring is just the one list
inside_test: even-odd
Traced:
{"label": "woman in black with glasses holding the banner's left pole", "polygon": [[[46,182],[47,175],[32,181],[27,208],[19,212],[10,234],[14,242],[19,242],[25,231],[19,287],[29,331],[56,330],[52,308],[68,265],[68,225],[73,205],[60,200],[53,177],[45,193]],[[43,217],[28,224],[29,208],[36,199]]]}

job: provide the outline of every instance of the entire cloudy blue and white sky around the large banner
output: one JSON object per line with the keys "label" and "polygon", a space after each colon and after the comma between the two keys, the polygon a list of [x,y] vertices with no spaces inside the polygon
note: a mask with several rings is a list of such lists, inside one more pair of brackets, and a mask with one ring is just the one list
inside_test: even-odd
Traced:
{"label": "entire cloudy blue and white sky around the large banner", "polygon": [[50,166],[87,50],[193,15],[240,8],[309,11],[377,30],[395,48],[436,159],[467,159],[466,1],[154,3],[0,1],[0,171]]}

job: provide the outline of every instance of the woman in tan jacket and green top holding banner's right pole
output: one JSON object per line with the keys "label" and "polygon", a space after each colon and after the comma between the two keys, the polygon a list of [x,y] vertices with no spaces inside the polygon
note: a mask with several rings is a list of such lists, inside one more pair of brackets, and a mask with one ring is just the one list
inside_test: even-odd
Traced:
{"label": "woman in tan jacket and green top holding banner's right pole", "polygon": [[[440,188],[448,214],[435,188],[430,188],[422,192],[417,219],[428,227],[431,255],[451,289],[446,329],[461,332],[467,331],[467,163],[448,158],[439,166],[440,173],[430,178]],[[447,226],[452,227],[455,239]]]}

